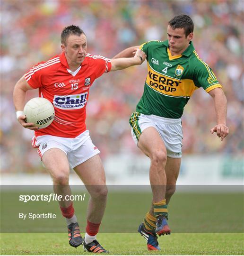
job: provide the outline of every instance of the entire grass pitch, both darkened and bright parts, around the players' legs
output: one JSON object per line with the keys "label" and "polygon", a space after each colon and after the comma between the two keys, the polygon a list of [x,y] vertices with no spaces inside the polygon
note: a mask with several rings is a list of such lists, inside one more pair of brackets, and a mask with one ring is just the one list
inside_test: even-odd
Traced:
{"label": "entire grass pitch, both darkened and bright parts, around the players' legs", "polygon": [[[20,193],[38,194],[17,188],[0,194],[1,255],[89,255],[82,246],[70,247],[56,201],[23,203],[18,200]],[[243,193],[176,193],[169,205],[173,233],[158,238],[161,251],[149,252],[146,240],[135,232],[150,201],[151,192],[109,193],[97,239],[111,255],[244,255]],[[74,202],[83,236],[87,202],[88,197]],[[23,220],[19,212],[53,212],[57,219]]]}

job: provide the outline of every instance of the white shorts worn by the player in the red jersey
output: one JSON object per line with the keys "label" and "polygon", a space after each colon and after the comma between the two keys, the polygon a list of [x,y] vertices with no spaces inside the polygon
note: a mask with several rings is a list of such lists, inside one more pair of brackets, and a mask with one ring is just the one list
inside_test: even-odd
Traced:
{"label": "white shorts worn by the player in the red jersey", "polygon": [[89,131],[86,130],[75,138],[57,137],[43,135],[32,138],[32,146],[38,148],[41,156],[50,148],[61,149],[68,157],[71,168],[82,164],[94,155],[100,153],[98,148],[92,143]]}

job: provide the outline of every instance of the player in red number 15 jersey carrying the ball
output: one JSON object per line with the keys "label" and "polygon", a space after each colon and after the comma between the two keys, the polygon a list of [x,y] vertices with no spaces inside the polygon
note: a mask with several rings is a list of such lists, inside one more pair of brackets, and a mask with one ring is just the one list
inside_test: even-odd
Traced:
{"label": "player in red number 15 jersey carrying the ball", "polygon": [[[63,29],[61,49],[61,55],[38,63],[16,83],[13,100],[17,120],[24,128],[35,130],[32,144],[38,148],[38,154],[52,177],[54,192],[62,195],[63,199],[71,195],[71,167],[91,196],[84,241],[72,201],[59,201],[68,225],[70,246],[78,247],[83,243],[85,250],[102,253],[106,250],[96,240],[96,234],[105,211],[107,187],[104,168],[97,155],[100,151],[92,143],[85,123],[89,88],[103,73],[139,65],[146,55],[137,50],[134,57],[110,60],[87,54],[87,37],[74,25]],[[39,97],[51,101],[55,109],[52,124],[43,129],[26,123],[22,111],[26,91],[36,88],[39,89]]]}

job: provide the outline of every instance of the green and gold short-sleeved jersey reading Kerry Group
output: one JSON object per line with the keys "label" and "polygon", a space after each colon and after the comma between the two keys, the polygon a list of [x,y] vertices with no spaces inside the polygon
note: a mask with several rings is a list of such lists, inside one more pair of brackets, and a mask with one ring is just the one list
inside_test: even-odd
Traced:
{"label": "green and gold short-sleeved jersey reading Kerry Group", "polygon": [[140,46],[147,54],[148,75],[136,110],[145,115],[178,119],[193,92],[222,87],[208,64],[197,55],[192,42],[182,55],[172,56],[168,41]]}

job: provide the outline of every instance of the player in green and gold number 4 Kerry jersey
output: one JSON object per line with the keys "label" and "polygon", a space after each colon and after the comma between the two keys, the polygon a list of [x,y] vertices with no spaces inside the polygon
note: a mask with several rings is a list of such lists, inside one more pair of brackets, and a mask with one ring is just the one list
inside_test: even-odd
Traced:
{"label": "player in green and gold number 4 Kerry jersey", "polygon": [[[192,44],[194,24],[188,15],[177,15],[167,27],[166,41],[149,41],[140,48],[147,54],[148,74],[144,93],[131,115],[132,137],[151,160],[149,179],[152,207],[139,226],[148,250],[159,250],[157,235],[170,234],[167,205],[175,191],[181,165],[183,108],[202,87],[215,103],[217,124],[210,131],[223,140],[227,99],[213,71],[197,55]],[[114,58],[131,57],[133,46]]]}

